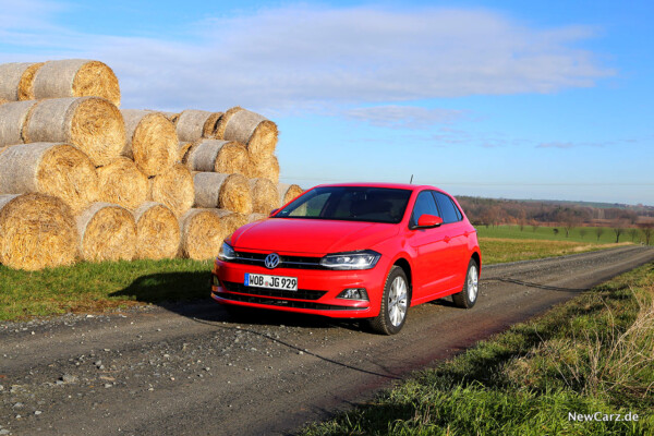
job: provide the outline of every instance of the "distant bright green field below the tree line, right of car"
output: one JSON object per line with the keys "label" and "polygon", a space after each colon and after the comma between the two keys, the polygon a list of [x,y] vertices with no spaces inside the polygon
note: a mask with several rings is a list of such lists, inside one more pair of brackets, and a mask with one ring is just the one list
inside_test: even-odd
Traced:
{"label": "distant bright green field below the tree line, right of car", "polygon": [[[555,241],[574,241],[574,242],[588,242],[593,244],[610,244],[616,242],[616,234],[611,228],[605,227],[603,233],[597,240],[596,228],[594,227],[576,227],[570,230],[570,234],[566,238],[566,229],[562,227],[556,227],[558,234],[555,234],[554,227],[538,227],[536,231],[533,231],[531,226],[524,226],[523,230],[520,230],[519,226],[497,226],[488,227],[477,226],[477,234],[480,238],[509,238],[509,239],[538,239],[538,240],[555,240]],[[634,242],[640,243],[641,239],[644,240],[641,233],[631,240],[630,229],[627,229],[625,233],[620,234],[620,242]],[[583,233],[583,234],[582,234]]]}

